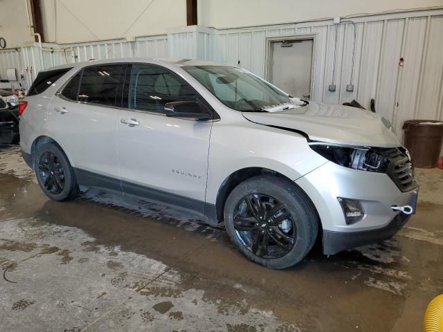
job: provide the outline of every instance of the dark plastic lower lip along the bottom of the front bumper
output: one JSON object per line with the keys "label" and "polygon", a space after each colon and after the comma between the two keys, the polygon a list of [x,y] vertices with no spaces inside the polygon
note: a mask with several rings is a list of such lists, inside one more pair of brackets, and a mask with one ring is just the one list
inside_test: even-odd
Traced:
{"label": "dark plastic lower lip along the bottom of the front bumper", "polygon": [[361,232],[333,232],[323,230],[323,253],[334,255],[346,249],[365,246],[390,239],[408,221],[410,215],[399,213],[388,225],[376,230],[363,230]]}

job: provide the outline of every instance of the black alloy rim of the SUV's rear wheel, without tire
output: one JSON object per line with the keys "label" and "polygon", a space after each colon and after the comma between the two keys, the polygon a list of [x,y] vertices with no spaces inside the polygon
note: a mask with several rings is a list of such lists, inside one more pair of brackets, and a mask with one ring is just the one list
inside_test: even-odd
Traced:
{"label": "black alloy rim of the SUV's rear wheel, without tire", "polygon": [[64,169],[59,158],[51,151],[46,151],[40,156],[38,174],[46,190],[51,194],[60,194],[64,189]]}

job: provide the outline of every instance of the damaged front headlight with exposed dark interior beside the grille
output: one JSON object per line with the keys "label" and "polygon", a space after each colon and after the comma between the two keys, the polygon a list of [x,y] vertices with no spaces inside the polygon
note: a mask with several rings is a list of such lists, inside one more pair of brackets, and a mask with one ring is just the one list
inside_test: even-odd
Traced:
{"label": "damaged front headlight with exposed dark interior beside the grille", "polygon": [[332,163],[369,172],[384,172],[388,160],[370,147],[310,142],[309,147]]}

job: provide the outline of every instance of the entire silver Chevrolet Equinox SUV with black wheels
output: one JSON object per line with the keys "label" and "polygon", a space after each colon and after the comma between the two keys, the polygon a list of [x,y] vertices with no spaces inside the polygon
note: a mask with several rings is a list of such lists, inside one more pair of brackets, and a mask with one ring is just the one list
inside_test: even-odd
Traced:
{"label": "entire silver Chevrolet Equinox SUV with black wheels", "polygon": [[408,151],[375,113],[293,98],[243,68],[120,59],[39,73],[21,149],[51,199],[99,187],[224,223],[248,259],[298,263],[392,237],[415,211]]}

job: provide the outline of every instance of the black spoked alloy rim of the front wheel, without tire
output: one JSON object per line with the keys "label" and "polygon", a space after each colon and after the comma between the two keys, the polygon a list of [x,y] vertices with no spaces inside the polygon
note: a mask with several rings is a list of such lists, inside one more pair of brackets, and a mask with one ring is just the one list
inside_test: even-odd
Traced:
{"label": "black spoked alloy rim of the front wheel, without tire", "polygon": [[238,201],[233,228],[239,241],[264,259],[287,255],[297,239],[296,222],[287,207],[266,194],[247,194]]}

